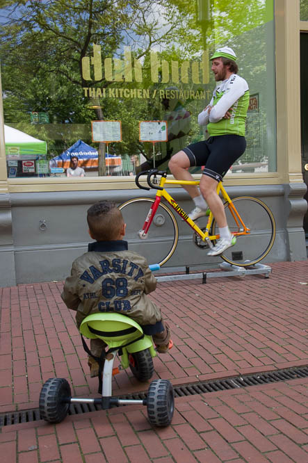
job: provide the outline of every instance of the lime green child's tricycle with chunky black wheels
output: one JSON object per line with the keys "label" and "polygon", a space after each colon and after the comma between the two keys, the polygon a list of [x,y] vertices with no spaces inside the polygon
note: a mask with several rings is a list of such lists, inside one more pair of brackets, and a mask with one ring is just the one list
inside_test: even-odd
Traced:
{"label": "lime green child's tricycle with chunky black wheels", "polygon": [[[150,266],[156,269],[155,266]],[[102,339],[108,346],[104,352],[104,367],[99,375],[99,398],[73,398],[70,384],[64,378],[49,378],[40,392],[40,416],[49,423],[60,423],[74,403],[102,405],[109,409],[118,405],[145,405],[149,423],[154,426],[168,426],[172,421],[175,394],[170,381],[154,380],[149,384],[147,397],[143,400],[112,397],[113,374],[119,369],[130,368],[141,382],[149,380],[154,372],[153,357],[156,350],[152,336],[143,333],[142,327],[128,316],[115,313],[97,313],[87,316],[80,326],[80,332],[88,339]],[[84,341],[84,340],[83,340]],[[84,346],[85,346],[84,342]],[[105,355],[106,354],[106,355]],[[120,357],[120,368],[113,368],[115,357]]]}

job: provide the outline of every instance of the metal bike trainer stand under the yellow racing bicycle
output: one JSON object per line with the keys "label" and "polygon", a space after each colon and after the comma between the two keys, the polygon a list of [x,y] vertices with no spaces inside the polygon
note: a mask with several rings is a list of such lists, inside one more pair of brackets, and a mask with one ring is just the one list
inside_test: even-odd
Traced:
{"label": "metal bike trainer stand under the yellow racing bicycle", "polygon": [[206,283],[207,278],[218,278],[218,277],[245,277],[245,275],[257,275],[264,274],[265,278],[269,278],[269,274],[272,269],[270,266],[266,266],[263,263],[255,263],[254,266],[239,267],[234,266],[231,263],[222,262],[219,264],[222,272],[202,272],[202,273],[189,273],[189,267],[186,266],[186,273],[180,275],[164,275],[157,276],[157,282],[170,282],[172,280],[178,281],[181,279],[197,279],[202,278],[202,284]]}

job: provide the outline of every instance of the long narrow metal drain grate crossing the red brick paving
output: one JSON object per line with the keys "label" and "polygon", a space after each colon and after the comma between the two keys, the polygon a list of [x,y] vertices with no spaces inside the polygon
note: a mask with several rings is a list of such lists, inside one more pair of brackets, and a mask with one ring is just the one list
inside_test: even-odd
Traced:
{"label": "long narrow metal drain grate crossing the red brick paving", "polygon": [[[273,382],[282,382],[295,380],[297,378],[308,377],[308,366],[299,368],[286,368],[284,370],[271,371],[269,373],[256,373],[255,375],[229,377],[225,380],[195,382],[182,384],[174,387],[175,397],[193,396],[195,394],[204,394],[206,392],[227,391],[248,386],[257,386],[259,384],[269,384]],[[146,392],[116,396],[121,399],[143,400],[147,398]],[[97,412],[101,410],[99,404],[74,403],[70,406],[69,415],[79,415],[88,412]],[[20,412],[8,412],[0,414],[0,428],[18,423],[29,423],[29,421],[40,420],[40,411],[36,409],[27,409]]]}

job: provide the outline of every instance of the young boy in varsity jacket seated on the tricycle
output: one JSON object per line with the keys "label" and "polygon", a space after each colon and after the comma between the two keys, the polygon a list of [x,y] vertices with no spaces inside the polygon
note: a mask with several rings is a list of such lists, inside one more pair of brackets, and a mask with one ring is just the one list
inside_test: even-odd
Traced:
{"label": "young boy in varsity jacket seated on the tricycle", "polygon": [[[77,327],[83,318],[95,312],[117,312],[135,320],[143,332],[153,337],[157,351],[168,352],[170,329],[163,322],[161,309],[146,294],[156,289],[144,257],[127,249],[122,213],[111,201],[100,201],[88,209],[89,234],[95,243],[72,264],[61,298],[76,310]],[[100,357],[106,344],[90,340],[92,355]],[[99,365],[88,358],[90,376],[98,376]]]}

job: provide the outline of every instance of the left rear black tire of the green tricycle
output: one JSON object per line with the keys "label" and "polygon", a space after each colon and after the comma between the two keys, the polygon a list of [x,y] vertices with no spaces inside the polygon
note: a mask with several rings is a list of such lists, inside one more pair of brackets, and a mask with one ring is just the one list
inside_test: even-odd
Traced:
{"label": "left rear black tire of the green tricycle", "polygon": [[51,377],[40,391],[40,417],[49,423],[60,423],[70,409],[70,384],[64,378]]}

